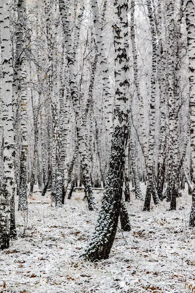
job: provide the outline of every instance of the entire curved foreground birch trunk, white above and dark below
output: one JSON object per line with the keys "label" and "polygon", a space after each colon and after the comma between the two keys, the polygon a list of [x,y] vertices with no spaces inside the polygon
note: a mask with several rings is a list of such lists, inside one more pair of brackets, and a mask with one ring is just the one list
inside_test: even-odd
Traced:
{"label": "entire curved foreground birch trunk, white above and dark below", "polygon": [[117,232],[121,207],[125,146],[128,137],[129,58],[128,58],[128,0],[115,0],[117,22],[113,25],[115,45],[114,133],[109,169],[95,232],[89,240],[85,256],[91,261],[109,257]]}

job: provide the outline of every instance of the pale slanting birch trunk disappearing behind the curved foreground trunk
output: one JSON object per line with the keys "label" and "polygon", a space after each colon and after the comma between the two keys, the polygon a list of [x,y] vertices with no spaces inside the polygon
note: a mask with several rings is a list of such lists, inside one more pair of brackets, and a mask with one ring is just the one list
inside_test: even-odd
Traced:
{"label": "pale slanting birch trunk disappearing behind the curved foreground trunk", "polygon": [[94,27],[96,33],[96,42],[98,47],[98,60],[102,72],[102,85],[103,85],[103,98],[105,102],[105,126],[106,134],[108,139],[108,146],[111,146],[111,138],[113,133],[113,123],[112,123],[112,98],[111,98],[111,88],[110,88],[110,78],[107,58],[105,55],[105,45],[102,37],[102,23],[100,22],[98,0],[92,0],[92,11],[94,17]]}

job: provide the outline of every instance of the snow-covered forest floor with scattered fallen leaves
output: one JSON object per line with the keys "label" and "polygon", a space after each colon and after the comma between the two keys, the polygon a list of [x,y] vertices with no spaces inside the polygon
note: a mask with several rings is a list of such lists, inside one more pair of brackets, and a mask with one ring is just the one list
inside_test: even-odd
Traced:
{"label": "snow-covered forest floor with scattered fallen leaves", "polygon": [[[95,192],[99,206],[102,194]],[[49,193],[41,197],[35,192],[23,237],[23,215],[17,212],[19,237],[0,252],[1,293],[193,292],[195,230],[188,228],[187,189],[177,199],[176,211],[169,211],[164,201],[143,212],[143,202],[132,195],[127,204],[132,230],[118,229],[110,258],[98,263],[79,257],[98,216],[88,211],[83,196],[74,192],[56,209]]]}

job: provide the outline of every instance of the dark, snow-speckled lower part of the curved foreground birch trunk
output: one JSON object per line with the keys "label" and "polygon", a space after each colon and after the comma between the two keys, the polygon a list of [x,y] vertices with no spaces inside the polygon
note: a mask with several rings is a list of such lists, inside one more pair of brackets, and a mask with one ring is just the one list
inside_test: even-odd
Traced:
{"label": "dark, snow-speckled lower part of the curved foreground birch trunk", "polygon": [[127,127],[116,127],[98,223],[86,250],[86,257],[91,261],[108,258],[115,239],[122,197],[126,140]]}

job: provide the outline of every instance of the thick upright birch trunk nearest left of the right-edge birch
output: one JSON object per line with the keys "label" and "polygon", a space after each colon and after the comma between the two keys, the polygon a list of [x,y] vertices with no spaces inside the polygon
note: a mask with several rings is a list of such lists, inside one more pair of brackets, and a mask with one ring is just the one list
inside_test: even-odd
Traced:
{"label": "thick upright birch trunk nearest left of the right-edge birch", "polygon": [[[181,7],[180,7],[181,9]],[[168,50],[168,107],[169,107],[169,152],[168,152],[168,195],[171,200],[170,209],[176,209],[177,170],[179,166],[178,148],[178,105],[180,99],[180,21],[175,21],[175,2],[169,1],[167,15],[169,20]]]}

